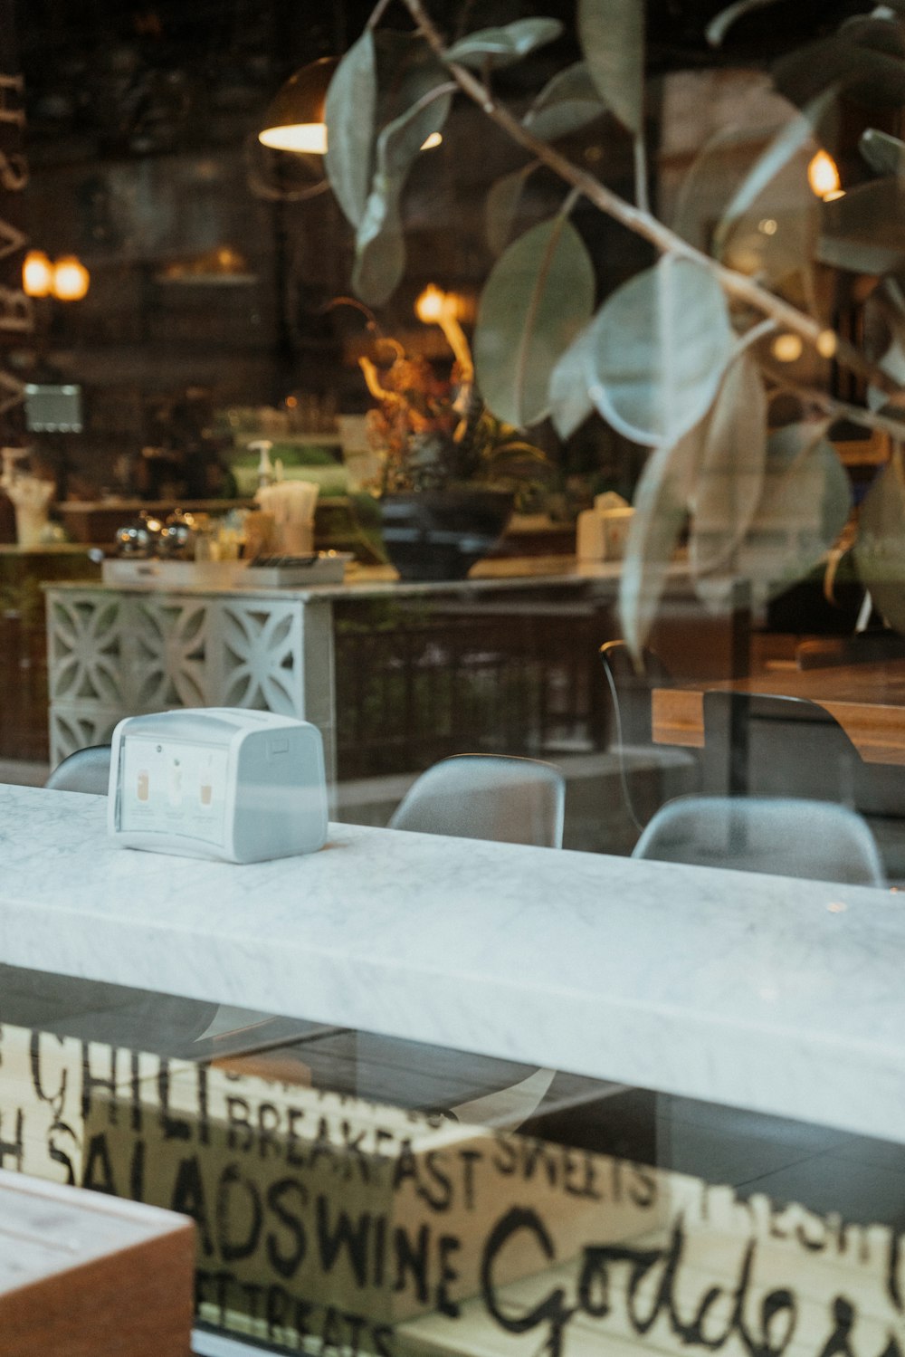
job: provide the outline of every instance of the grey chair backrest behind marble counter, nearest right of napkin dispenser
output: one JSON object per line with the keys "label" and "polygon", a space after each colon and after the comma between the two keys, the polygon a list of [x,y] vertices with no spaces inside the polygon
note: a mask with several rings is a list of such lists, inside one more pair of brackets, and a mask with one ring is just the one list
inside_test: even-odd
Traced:
{"label": "grey chair backrest behind marble counter, nearest right of napkin dispenser", "polygon": [[408,788],[391,829],[560,848],[566,779],[551,764],[502,754],[453,754]]}

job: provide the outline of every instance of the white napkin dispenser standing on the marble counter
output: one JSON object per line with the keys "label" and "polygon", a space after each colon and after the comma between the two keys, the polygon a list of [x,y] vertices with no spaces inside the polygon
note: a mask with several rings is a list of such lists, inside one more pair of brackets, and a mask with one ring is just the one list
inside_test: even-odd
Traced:
{"label": "white napkin dispenser standing on the marble counter", "polygon": [[128,716],[113,733],[107,832],[223,862],[315,852],[327,837],[320,731],[242,707]]}

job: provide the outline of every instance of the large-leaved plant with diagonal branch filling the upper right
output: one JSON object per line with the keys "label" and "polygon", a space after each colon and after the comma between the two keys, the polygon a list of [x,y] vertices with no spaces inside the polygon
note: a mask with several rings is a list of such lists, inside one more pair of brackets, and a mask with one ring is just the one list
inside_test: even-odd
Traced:
{"label": "large-leaved plant with diagonal branch filling the upper right", "polygon": [[[412,30],[389,35],[380,0],[327,96],[327,171],[355,228],[354,290],[380,305],[403,277],[403,187],[455,95],[479,104],[529,157],[491,191],[498,223],[512,223],[536,167],[559,178],[559,210],[507,243],[490,273],[474,341],[476,377],[488,408],[513,426],[551,415],[567,437],[596,410],[650,449],[621,578],[630,645],[643,646],[682,533],[708,601],[726,600],[739,577],[763,601],[820,562],[851,510],[848,476],[828,438],[840,418],[891,441],[891,460],[860,509],[855,562],[866,586],[883,596],[889,620],[905,627],[905,301],[897,281],[905,270],[905,144],[871,125],[870,114],[879,109],[882,121],[905,102],[905,0],[875,9],[866,0],[866,12],[839,33],[783,56],[773,76],[787,121],[701,243],[650,208],[640,0],[577,0],[582,60],[559,71],[526,111],[501,98],[497,72],[559,37],[558,20],[521,19],[449,39],[422,0],[399,4]],[[708,39],[725,43],[739,19],[769,4],[794,0],[737,0],[710,23]],[[844,98],[867,110],[866,178],[841,197],[809,183],[806,171],[833,148]],[[611,136],[631,138],[634,202],[559,149],[560,137],[596,118],[608,121]],[[658,254],[602,301],[571,221],[581,199]],[[752,227],[757,235],[761,223],[750,250]],[[833,324],[826,280],[840,270],[853,293],[870,292],[860,349]],[[821,364],[824,373],[852,375],[864,399],[840,398]],[[776,394],[794,396],[782,423],[768,418]]]}

